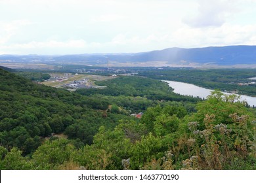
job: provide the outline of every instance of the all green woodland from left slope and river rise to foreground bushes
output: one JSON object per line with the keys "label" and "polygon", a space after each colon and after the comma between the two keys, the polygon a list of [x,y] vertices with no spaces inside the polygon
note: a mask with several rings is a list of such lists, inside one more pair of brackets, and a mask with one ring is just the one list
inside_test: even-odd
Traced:
{"label": "all green woodland from left slope and river rise to foreground bushes", "polygon": [[256,112],[236,95],[135,76],[77,92],[0,81],[0,169],[256,169]]}

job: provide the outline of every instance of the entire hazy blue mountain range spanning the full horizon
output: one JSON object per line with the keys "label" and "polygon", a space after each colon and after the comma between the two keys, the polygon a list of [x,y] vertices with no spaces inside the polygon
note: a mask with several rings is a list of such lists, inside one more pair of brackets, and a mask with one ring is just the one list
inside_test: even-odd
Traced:
{"label": "entire hazy blue mountain range spanning the full horizon", "polygon": [[256,64],[256,46],[222,46],[205,48],[167,48],[131,54],[75,54],[64,56],[1,55],[1,61],[18,63],[83,63],[100,65],[161,61],[173,65],[240,65]]}

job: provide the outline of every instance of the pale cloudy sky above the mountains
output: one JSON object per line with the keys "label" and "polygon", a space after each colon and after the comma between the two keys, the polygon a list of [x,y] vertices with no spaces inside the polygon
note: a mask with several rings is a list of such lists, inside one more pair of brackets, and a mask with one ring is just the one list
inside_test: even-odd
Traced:
{"label": "pale cloudy sky above the mountains", "polygon": [[0,0],[0,54],[255,45],[256,0]]}

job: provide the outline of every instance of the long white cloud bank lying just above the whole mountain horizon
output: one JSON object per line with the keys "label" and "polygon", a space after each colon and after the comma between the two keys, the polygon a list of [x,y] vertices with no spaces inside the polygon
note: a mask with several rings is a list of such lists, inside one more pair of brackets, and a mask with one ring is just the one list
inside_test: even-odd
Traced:
{"label": "long white cloud bank lying just above the whole mountain horizon", "polygon": [[238,44],[256,44],[256,25],[230,25],[194,28],[183,25],[171,33],[153,33],[145,36],[120,33],[106,42],[87,42],[83,39],[69,41],[31,41],[24,44],[0,46],[3,53],[25,54],[83,54],[103,52],[144,52],[169,47],[205,47]]}

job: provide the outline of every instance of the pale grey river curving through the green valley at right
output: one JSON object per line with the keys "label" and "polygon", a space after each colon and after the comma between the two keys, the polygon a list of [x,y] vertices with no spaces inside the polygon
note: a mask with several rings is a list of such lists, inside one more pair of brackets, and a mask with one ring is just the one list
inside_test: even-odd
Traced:
{"label": "pale grey river curving through the green valley at right", "polygon": [[[196,86],[194,84],[188,84],[184,82],[176,82],[176,81],[169,81],[169,80],[162,80],[163,82],[167,82],[171,88],[173,88],[173,92],[179,93],[181,95],[192,95],[194,97],[205,98],[213,92],[213,90],[209,90],[206,88],[202,88]],[[224,93],[224,92],[223,92]],[[230,94],[230,93],[225,93]],[[250,106],[256,106],[256,97],[250,97],[247,95],[240,95],[241,100],[247,101]]]}

